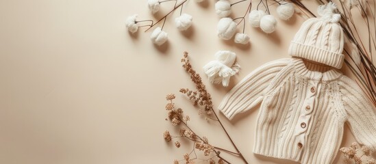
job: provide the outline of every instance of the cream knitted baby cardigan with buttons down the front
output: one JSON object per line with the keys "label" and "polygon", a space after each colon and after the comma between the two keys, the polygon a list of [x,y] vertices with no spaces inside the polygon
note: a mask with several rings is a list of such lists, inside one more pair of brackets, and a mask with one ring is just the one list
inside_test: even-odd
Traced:
{"label": "cream knitted baby cardigan with buttons down the front", "polygon": [[344,122],[359,143],[376,149],[375,109],[360,87],[334,68],[300,58],[271,61],[232,88],[219,109],[231,119],[260,102],[255,154],[332,163]]}

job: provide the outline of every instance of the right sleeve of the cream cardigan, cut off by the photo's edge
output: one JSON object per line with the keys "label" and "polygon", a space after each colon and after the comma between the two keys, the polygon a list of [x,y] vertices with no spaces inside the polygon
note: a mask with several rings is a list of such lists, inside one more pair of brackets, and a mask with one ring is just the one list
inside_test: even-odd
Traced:
{"label": "right sleeve of the cream cardigan, cut off by the photo's edge", "polygon": [[376,109],[357,83],[345,77],[340,90],[347,124],[358,143],[376,150]]}

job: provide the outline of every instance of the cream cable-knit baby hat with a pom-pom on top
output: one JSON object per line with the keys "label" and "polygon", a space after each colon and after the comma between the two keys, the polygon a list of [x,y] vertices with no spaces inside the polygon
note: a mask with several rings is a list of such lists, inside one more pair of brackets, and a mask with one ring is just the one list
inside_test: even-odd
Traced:
{"label": "cream cable-knit baby hat with a pom-pom on top", "polygon": [[341,68],[344,33],[335,14],[336,4],[329,2],[318,7],[319,18],[305,20],[291,41],[288,54],[316,61],[334,68]]}

